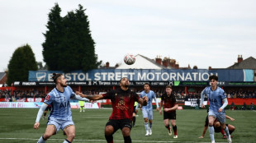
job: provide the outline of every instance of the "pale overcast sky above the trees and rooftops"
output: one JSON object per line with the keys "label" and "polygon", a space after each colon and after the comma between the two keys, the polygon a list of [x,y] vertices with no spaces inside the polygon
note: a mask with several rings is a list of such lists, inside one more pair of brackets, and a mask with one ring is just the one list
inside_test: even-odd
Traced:
{"label": "pale overcast sky above the trees and rooftops", "polygon": [[[230,67],[256,58],[254,0],[0,0],[0,71],[16,48],[29,44],[37,62],[50,9],[85,9],[98,60],[120,63],[126,53],[174,58],[180,67]],[[45,64],[45,63],[44,63]]]}

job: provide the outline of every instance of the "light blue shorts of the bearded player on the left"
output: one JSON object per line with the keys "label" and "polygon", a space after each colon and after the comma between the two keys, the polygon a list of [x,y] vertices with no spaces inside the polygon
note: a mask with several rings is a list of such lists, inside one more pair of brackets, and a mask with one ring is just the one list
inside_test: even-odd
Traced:
{"label": "light blue shorts of the bearded player on the left", "polygon": [[64,128],[74,125],[74,123],[72,120],[49,120],[47,125],[54,125],[57,133],[59,129],[64,131]]}

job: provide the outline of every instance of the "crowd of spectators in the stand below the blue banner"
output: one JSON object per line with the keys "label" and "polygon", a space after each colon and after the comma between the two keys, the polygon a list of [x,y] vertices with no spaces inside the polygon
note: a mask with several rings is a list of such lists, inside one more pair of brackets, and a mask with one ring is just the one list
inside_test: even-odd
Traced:
{"label": "crowd of spectators in the stand below the blue banner", "polygon": [[[51,90],[50,88],[49,90]],[[78,90],[78,88],[73,88],[74,91]],[[100,92],[108,92],[111,88],[98,88],[98,87],[92,87],[92,88],[82,88],[81,92],[86,95],[98,95]],[[143,91],[142,88],[131,88],[131,90],[134,90],[136,93],[140,93]],[[164,94],[165,90],[164,88],[155,88],[152,89],[157,96],[157,98],[160,98],[161,95]],[[187,95],[185,94],[183,89],[173,89],[173,95],[176,96],[177,99],[198,99],[201,96],[201,90],[198,89],[194,92],[187,92]],[[256,98],[256,90],[252,89],[229,89],[225,90],[227,98],[228,99],[255,99]],[[23,99],[23,98],[45,98],[45,90],[37,90],[35,88],[26,89],[26,90],[0,90],[0,98],[8,98],[10,101],[16,101],[17,99]]]}

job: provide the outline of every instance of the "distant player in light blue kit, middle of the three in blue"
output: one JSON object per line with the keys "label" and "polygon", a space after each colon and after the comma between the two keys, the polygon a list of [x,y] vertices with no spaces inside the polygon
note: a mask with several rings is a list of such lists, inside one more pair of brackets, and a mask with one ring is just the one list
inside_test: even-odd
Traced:
{"label": "distant player in light blue kit, middle of the three in blue", "polygon": [[[145,83],[144,91],[140,92],[140,98],[142,98],[143,96],[147,96],[149,99],[148,104],[146,106],[142,107],[142,114],[143,114],[143,118],[145,121],[144,125],[145,125],[145,130],[146,130],[145,136],[149,136],[149,135],[152,135],[152,129],[151,129],[152,122],[153,122],[152,100],[154,99],[154,101],[155,101],[157,111],[159,111],[159,103],[155,97],[154,91],[150,90],[149,83]],[[139,104],[137,104],[137,107],[138,107],[138,105]]]}

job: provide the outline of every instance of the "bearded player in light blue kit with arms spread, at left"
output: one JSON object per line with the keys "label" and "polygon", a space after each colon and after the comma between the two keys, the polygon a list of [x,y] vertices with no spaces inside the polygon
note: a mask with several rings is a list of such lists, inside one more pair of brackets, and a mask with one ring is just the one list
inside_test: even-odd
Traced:
{"label": "bearded player in light blue kit with arms spread, at left", "polygon": [[72,120],[69,99],[72,98],[83,101],[88,99],[82,98],[80,95],[75,95],[73,90],[66,84],[67,80],[62,74],[53,73],[52,78],[56,87],[46,96],[44,103],[37,113],[36,123],[34,125],[35,129],[39,128],[39,121],[42,113],[44,113],[45,108],[47,108],[47,106],[50,104],[51,110],[48,117],[45,134],[40,137],[37,143],[45,143],[45,141],[49,139],[50,136],[55,135],[59,129],[62,129],[64,134],[67,136],[64,143],[70,143],[73,141],[75,136],[75,127]]}

